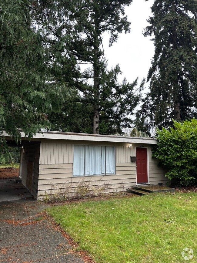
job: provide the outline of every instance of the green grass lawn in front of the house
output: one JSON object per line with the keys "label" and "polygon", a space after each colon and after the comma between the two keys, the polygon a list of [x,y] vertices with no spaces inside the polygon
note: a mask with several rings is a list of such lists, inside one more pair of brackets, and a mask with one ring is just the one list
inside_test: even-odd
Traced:
{"label": "green grass lawn in front of the house", "polygon": [[[47,212],[96,263],[172,263],[197,262],[196,208],[196,193],[166,193],[66,204]],[[194,251],[193,259],[182,258],[184,248]]]}

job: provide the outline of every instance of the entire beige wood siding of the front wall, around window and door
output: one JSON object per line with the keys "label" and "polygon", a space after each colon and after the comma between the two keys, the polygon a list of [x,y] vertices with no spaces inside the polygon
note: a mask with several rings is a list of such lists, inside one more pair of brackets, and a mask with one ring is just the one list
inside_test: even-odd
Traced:
{"label": "entire beige wood siding of the front wall, around window and door", "polygon": [[[128,187],[136,184],[136,163],[130,162],[130,156],[136,156],[135,147],[128,143],[112,142],[86,142],[87,145],[111,145],[116,147],[116,174],[103,176],[72,177],[73,146],[85,144],[82,141],[45,140],[41,142],[38,178],[38,199],[46,194],[66,192],[68,196],[75,196],[81,187],[86,187],[91,192],[110,193],[126,191]],[[165,171],[158,167],[157,160],[151,157],[150,145],[148,147],[149,180],[150,184],[166,184]],[[92,193],[91,192],[91,193]]]}

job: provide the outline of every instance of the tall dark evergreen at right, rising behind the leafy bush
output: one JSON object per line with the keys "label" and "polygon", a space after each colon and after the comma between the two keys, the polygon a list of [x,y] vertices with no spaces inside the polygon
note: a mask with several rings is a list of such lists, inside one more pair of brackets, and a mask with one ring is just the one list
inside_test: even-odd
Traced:
{"label": "tall dark evergreen at right, rising behind the leafy bush", "polygon": [[197,114],[197,2],[155,0],[144,35],[154,36],[150,92],[137,114],[138,127],[169,126]]}

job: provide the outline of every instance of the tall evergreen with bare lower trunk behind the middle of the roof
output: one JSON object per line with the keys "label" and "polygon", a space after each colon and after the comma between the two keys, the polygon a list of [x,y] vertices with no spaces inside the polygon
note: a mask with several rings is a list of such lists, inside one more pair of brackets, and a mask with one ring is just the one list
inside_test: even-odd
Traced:
{"label": "tall evergreen with bare lower trunk behind the middle of the roof", "polygon": [[73,41],[75,56],[78,61],[92,65],[82,73],[82,78],[88,80],[87,86],[78,89],[83,99],[93,107],[94,134],[98,134],[99,129],[104,134],[122,133],[122,127],[130,127],[128,114],[133,113],[139,101],[140,93],[134,94],[137,80],[134,83],[126,83],[126,80],[118,83],[120,68],[115,66],[107,70],[102,46],[103,33],[109,32],[111,46],[119,33],[130,32],[130,23],[124,15],[125,6],[131,2],[86,0],[75,9],[74,19],[79,29]]}

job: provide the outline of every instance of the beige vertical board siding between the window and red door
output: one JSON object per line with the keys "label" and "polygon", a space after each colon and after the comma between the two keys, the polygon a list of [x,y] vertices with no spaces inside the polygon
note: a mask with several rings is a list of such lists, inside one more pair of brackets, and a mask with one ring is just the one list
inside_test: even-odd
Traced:
{"label": "beige vertical board siding between the window and red door", "polygon": [[116,163],[130,163],[131,156],[136,156],[135,147],[116,146]]}

